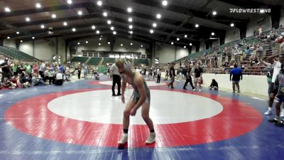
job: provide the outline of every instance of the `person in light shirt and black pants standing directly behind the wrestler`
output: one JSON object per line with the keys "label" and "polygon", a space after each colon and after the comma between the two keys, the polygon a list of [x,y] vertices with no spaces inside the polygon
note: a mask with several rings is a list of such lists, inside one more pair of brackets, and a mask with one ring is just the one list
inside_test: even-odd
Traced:
{"label": "person in light shirt and black pants standing directly behind the wrestler", "polygon": [[117,68],[116,63],[111,65],[110,68],[110,72],[111,72],[111,78],[112,78],[112,96],[116,96],[114,88],[115,85],[117,84],[117,95],[121,95],[120,93],[120,87],[121,87],[121,78],[120,78],[120,74],[119,74],[119,68]]}

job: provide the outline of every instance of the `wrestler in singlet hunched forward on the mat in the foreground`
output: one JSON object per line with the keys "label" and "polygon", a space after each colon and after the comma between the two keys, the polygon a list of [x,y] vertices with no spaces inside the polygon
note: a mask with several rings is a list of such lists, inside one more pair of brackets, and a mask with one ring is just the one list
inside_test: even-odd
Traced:
{"label": "wrestler in singlet hunched forward on the mat in the foreground", "polygon": [[124,121],[123,121],[123,134],[119,139],[118,144],[126,144],[128,139],[129,131],[129,117],[135,116],[136,111],[142,106],[142,117],[146,122],[148,129],[150,131],[149,137],[146,140],[146,144],[153,144],[155,142],[155,130],[153,126],[153,121],[149,117],[150,110],[150,90],[146,84],[145,79],[140,73],[135,73],[131,70],[131,62],[127,59],[116,60],[116,65],[119,68],[119,73],[122,77],[122,95],[121,101],[125,102],[124,91],[126,88],[126,82],[131,84],[133,87],[133,94],[131,95],[129,101],[126,103],[124,109]]}

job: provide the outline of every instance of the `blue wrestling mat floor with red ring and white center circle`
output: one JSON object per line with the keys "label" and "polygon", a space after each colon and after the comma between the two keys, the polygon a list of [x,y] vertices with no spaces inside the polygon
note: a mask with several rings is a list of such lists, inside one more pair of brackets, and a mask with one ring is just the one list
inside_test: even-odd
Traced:
{"label": "blue wrestling mat floor with red ring and white center circle", "polygon": [[266,100],[147,82],[156,142],[144,143],[138,110],[124,148],[116,143],[125,104],[111,97],[107,78],[0,90],[0,159],[284,159],[283,128],[263,116]]}

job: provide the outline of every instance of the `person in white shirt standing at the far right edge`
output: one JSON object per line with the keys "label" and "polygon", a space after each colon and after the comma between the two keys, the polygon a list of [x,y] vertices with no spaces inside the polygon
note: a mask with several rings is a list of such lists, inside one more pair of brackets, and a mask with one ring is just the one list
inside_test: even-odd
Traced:
{"label": "person in white shirt standing at the far right edge", "polygon": [[[274,58],[276,57],[279,57],[279,60],[274,60]],[[280,73],[280,70],[281,70],[281,64],[284,63],[284,54],[280,54],[280,55],[272,55],[270,57],[268,57],[266,59],[266,61],[268,63],[271,63],[271,67],[273,68],[273,75],[272,75],[272,83],[271,85],[272,86],[269,86],[269,87],[272,87],[273,88],[273,85],[274,85],[274,82],[276,80],[276,77],[277,75]],[[275,95],[274,96],[269,96],[271,95],[271,92],[268,92],[268,97],[269,97],[269,101],[268,101],[268,110],[264,113],[265,115],[270,115],[272,114],[272,106],[273,106],[273,101],[275,99]],[[284,116],[284,112],[281,112],[281,115]]]}

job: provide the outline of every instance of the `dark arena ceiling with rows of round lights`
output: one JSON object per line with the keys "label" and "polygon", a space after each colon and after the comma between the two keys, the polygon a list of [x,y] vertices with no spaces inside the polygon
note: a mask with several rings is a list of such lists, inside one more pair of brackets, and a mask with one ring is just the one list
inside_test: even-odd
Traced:
{"label": "dark arena ceiling with rows of round lights", "polygon": [[[284,6],[283,0],[168,0],[167,6],[163,6],[163,0],[102,0],[102,6],[97,4],[98,1],[72,0],[72,4],[68,4],[67,0],[2,0],[0,38],[28,41],[32,37],[75,40],[93,36],[118,36],[144,43],[160,41],[188,45],[209,39],[212,32],[217,37],[224,35],[226,30],[231,29],[231,23],[238,26],[248,23],[251,18],[263,16],[230,14],[231,8]],[[35,7],[37,3],[40,8]],[[11,11],[5,11],[6,7]],[[131,13],[127,11],[128,7],[131,7]],[[82,15],[78,15],[78,11],[82,11]],[[213,16],[212,11],[217,11],[217,15]],[[107,12],[107,16],[103,16],[104,12]],[[56,18],[52,18],[53,14]],[[157,18],[157,14],[161,18]],[[27,17],[30,21],[26,21]],[[133,21],[129,22],[129,18]],[[108,20],[111,24],[107,23]],[[67,26],[63,22],[67,22]],[[153,23],[157,26],[153,27]],[[198,28],[195,27],[197,23]],[[41,28],[42,25],[44,28]],[[129,25],[133,28],[130,29]],[[92,26],[96,28],[92,29]],[[116,35],[113,35],[111,26],[114,26]],[[73,32],[72,28],[76,28],[76,31]],[[151,29],[153,33],[150,33]],[[129,31],[133,31],[133,34]]]}

